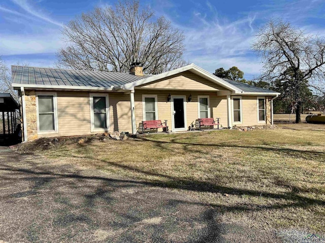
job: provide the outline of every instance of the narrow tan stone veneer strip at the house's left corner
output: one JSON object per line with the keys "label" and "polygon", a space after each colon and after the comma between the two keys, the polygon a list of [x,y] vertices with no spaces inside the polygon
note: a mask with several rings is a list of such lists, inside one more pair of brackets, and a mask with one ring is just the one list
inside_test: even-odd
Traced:
{"label": "narrow tan stone veneer strip at the house's left corner", "polygon": [[27,140],[32,141],[38,139],[35,91],[25,92],[25,103],[26,103]]}

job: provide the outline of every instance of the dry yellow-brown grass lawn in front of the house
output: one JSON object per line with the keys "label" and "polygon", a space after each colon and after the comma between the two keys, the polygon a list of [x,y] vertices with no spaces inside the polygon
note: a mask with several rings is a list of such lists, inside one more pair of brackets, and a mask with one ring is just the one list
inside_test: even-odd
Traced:
{"label": "dry yellow-brown grass lawn in front of the house", "polygon": [[218,208],[225,221],[324,232],[324,135],[294,129],[160,134],[36,153],[182,190]]}

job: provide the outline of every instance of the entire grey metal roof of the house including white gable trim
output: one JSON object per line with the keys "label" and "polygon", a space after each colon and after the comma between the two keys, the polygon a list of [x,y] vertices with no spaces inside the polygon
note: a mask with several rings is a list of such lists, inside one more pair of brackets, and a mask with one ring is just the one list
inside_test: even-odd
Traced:
{"label": "entire grey metal roof of the house including white gable trim", "polygon": [[[197,67],[194,64],[184,66],[169,72],[161,73],[158,75],[143,75],[136,76],[130,73],[121,72],[104,72],[104,71],[86,71],[86,70],[72,70],[72,69],[58,69],[58,68],[44,68],[44,67],[24,67],[24,66],[11,66],[12,70],[12,83],[14,87],[20,85],[44,85],[47,88],[63,88],[67,89],[115,89],[129,85],[138,86],[140,83],[148,83],[161,78],[161,75],[179,73],[187,68],[189,70],[198,69],[199,72],[206,77],[213,76],[211,73]],[[187,70],[186,69],[186,70]],[[195,70],[194,70],[195,71]],[[165,76],[164,76],[165,77]],[[152,79],[152,80],[151,80]],[[218,78],[219,83],[225,82],[223,85],[226,87],[233,87],[244,93],[276,93],[272,90],[265,90],[262,88],[254,87],[251,85],[236,82],[227,78]],[[209,79],[211,80],[211,79]],[[140,82],[140,83],[139,83]],[[133,83],[133,84],[131,84]],[[139,84],[138,84],[139,83]]]}

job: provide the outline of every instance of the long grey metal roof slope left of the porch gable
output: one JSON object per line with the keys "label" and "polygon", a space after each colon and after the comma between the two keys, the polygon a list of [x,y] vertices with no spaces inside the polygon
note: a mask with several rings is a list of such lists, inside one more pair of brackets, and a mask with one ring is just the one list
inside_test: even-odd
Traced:
{"label": "long grey metal roof slope left of the porch gable", "polygon": [[12,83],[79,87],[119,87],[151,75],[136,76],[121,72],[11,66]]}

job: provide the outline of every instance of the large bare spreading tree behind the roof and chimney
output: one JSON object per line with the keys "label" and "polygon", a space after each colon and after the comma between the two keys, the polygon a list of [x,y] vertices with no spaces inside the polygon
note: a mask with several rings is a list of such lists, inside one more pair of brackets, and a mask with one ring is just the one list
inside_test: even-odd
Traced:
{"label": "large bare spreading tree behind the roof and chimney", "polygon": [[96,8],[62,30],[67,47],[57,53],[57,65],[74,69],[127,72],[140,61],[156,74],[185,64],[184,35],[164,17],[155,20],[139,0],[124,0],[114,8]]}

